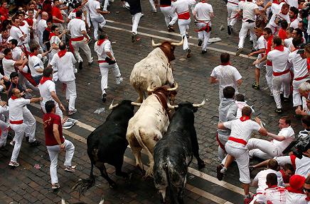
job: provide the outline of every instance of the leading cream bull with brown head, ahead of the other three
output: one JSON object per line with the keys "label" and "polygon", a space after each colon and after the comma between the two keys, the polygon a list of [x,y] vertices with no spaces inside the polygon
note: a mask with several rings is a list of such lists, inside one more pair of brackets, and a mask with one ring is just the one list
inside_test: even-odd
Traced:
{"label": "leading cream bull with brown head, ahead of the other three", "polygon": [[158,44],[152,39],[151,44],[156,48],[143,60],[134,64],[134,69],[130,74],[130,84],[139,94],[138,103],[142,103],[147,97],[149,87],[151,89],[164,85],[173,87],[176,84],[170,62],[176,59],[173,54],[174,49],[176,46],[183,45],[183,39],[178,43],[165,41]]}

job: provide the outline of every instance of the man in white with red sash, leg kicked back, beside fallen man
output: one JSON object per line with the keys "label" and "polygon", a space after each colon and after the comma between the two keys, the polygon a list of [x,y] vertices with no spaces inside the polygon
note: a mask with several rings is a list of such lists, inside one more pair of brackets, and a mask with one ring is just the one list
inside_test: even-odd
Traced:
{"label": "man in white with red sash, leg kicked back, beside fallen man", "polygon": [[251,198],[249,193],[251,183],[249,170],[250,158],[246,147],[247,141],[250,139],[253,130],[260,132],[260,135],[267,135],[267,130],[262,127],[260,119],[255,118],[256,122],[254,122],[250,120],[251,115],[252,109],[249,106],[245,106],[242,108],[242,117],[240,119],[218,124],[219,129],[231,130],[230,137],[225,145],[226,152],[229,156],[226,156],[222,165],[219,165],[217,168],[218,179],[223,179],[223,174],[227,170],[228,165],[235,158],[239,169],[240,181],[245,191],[245,203],[248,203]]}

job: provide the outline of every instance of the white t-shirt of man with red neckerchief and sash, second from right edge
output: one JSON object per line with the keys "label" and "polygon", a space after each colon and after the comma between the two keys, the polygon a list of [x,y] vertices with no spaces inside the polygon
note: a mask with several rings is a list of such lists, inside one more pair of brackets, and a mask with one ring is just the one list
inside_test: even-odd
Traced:
{"label": "white t-shirt of man with red neckerchief and sash, second from right edge", "polygon": [[267,55],[267,60],[272,61],[274,72],[284,72],[287,70],[287,59],[289,59],[289,49],[287,47],[284,47],[283,51],[272,50]]}

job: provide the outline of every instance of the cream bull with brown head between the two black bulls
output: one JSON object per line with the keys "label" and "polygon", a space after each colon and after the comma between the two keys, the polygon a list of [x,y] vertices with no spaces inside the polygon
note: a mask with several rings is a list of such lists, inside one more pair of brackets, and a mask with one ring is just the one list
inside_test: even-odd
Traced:
{"label": "cream bull with brown head between the two black bulls", "polygon": [[177,87],[176,84],[174,88],[148,88],[150,92],[154,91],[153,94],[141,103],[137,113],[129,120],[126,138],[136,159],[136,166],[143,173],[141,149],[144,149],[149,157],[150,168],[146,171],[146,176],[153,174],[153,149],[169,126],[169,92],[175,91]]}

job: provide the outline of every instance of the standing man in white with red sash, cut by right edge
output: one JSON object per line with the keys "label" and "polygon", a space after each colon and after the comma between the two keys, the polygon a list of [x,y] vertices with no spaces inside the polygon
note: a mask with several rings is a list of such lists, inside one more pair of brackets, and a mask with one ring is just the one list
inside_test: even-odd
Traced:
{"label": "standing man in white with red sash, cut by right edge", "polygon": [[[299,47],[301,44],[301,38],[294,38],[292,40],[292,45],[294,47]],[[298,54],[298,48],[295,48],[293,52],[289,53],[288,62],[293,65],[294,80],[293,80],[293,107],[301,108],[302,101],[299,94],[299,85],[304,81],[309,80],[309,72],[307,69],[306,56],[301,56],[304,54]]]}

